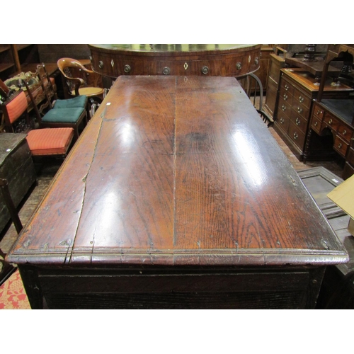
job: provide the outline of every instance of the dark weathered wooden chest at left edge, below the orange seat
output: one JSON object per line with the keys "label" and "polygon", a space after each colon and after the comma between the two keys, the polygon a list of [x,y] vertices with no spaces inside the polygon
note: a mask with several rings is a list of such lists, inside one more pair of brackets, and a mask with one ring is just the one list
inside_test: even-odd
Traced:
{"label": "dark weathered wooden chest at left edge, below the orange seat", "polygon": [[[8,181],[8,189],[16,207],[35,182],[35,166],[25,135],[0,135],[0,178]],[[10,220],[10,213],[0,194],[0,231]]]}

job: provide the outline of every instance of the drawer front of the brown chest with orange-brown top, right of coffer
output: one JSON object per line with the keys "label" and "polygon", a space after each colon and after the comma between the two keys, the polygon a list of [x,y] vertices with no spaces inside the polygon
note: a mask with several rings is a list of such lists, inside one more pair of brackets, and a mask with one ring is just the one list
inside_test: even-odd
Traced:
{"label": "drawer front of the brown chest with orange-brown top, right of coffer", "polygon": [[282,73],[276,125],[295,147],[300,159],[304,152],[311,109],[312,93]]}

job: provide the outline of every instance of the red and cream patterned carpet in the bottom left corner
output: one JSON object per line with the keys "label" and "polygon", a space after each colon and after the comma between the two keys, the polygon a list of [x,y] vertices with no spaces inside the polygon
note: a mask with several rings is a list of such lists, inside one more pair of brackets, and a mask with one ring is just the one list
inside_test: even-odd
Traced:
{"label": "red and cream patterned carpet in the bottom left corner", "polygon": [[18,270],[0,287],[0,309],[30,309]]}

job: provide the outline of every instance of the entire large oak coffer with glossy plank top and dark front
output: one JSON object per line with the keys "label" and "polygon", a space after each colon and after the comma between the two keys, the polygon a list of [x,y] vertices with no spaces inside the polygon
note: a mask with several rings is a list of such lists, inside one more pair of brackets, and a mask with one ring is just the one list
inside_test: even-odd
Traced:
{"label": "entire large oak coffer with glossy plank top and dark front", "polygon": [[270,309],[348,254],[235,78],[120,76],[7,259],[34,309]]}

